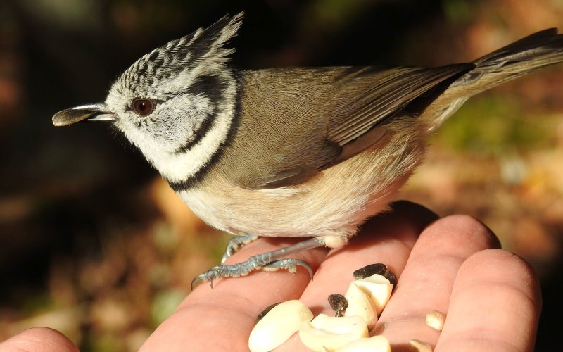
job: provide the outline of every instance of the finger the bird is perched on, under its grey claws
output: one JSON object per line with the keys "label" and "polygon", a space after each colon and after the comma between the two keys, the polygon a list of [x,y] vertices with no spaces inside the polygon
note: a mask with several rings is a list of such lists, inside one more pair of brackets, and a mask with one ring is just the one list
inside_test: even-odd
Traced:
{"label": "finger the bird is perched on, under its grey claws", "polygon": [[[238,263],[258,253],[279,249],[303,239],[258,239],[235,253],[227,263]],[[292,255],[315,270],[327,249],[319,248]],[[245,277],[220,279],[213,289],[200,284],[174,314],[149,337],[142,351],[243,351],[258,314],[272,303],[298,298],[310,282],[303,268],[295,274],[252,272]]]}

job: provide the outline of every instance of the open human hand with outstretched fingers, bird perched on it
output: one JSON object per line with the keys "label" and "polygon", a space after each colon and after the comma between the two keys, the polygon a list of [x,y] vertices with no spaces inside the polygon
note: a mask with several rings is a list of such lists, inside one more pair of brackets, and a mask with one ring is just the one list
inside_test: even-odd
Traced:
{"label": "open human hand with outstretched fingers, bird perched on it", "polygon": [[[259,239],[229,258],[248,258],[291,239]],[[352,272],[386,263],[399,277],[379,318],[377,332],[393,351],[412,351],[409,339],[434,351],[533,351],[541,310],[540,287],[531,267],[499,249],[495,235],[466,215],[438,218],[400,201],[393,211],[369,220],[343,249],[300,253],[315,270],[253,272],[220,279],[213,289],[198,286],[149,337],[141,351],[246,351],[248,335],[262,309],[299,298],[312,312],[334,314],[327,296],[343,293]],[[447,313],[443,331],[427,327],[429,310]],[[77,351],[63,334],[37,327],[0,344],[4,351]],[[296,334],[276,351],[308,351]]]}

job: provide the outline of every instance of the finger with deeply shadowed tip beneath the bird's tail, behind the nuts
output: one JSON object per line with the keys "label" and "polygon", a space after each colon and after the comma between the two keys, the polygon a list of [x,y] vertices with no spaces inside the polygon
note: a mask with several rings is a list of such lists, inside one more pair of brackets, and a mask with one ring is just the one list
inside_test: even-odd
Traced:
{"label": "finger with deeply shadowed tip beneath the bird's tail, behind the nuts", "polygon": [[[385,263],[399,275],[420,232],[436,218],[436,214],[414,203],[393,204],[391,213],[370,219],[348,246],[329,253],[301,301],[314,315],[334,315],[327,301],[329,294],[345,294],[353,281],[353,272],[368,264]],[[276,351],[309,350],[293,335]]]}

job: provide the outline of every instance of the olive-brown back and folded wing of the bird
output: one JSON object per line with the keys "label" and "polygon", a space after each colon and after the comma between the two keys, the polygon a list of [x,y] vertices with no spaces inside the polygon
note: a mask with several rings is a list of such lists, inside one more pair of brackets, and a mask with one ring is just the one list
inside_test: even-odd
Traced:
{"label": "olive-brown back and folded wing of the bird", "polygon": [[238,165],[230,169],[240,172],[229,178],[246,189],[310,180],[377,143],[382,135],[376,131],[378,126],[415,99],[431,99],[434,92],[442,92],[472,68],[473,64],[462,63],[439,68],[296,68],[249,74],[239,145],[234,146],[246,153],[245,158],[234,158]]}

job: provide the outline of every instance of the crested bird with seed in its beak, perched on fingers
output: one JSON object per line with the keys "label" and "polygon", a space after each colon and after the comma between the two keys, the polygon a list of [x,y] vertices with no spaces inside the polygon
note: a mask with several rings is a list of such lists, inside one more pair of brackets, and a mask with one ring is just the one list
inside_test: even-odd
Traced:
{"label": "crested bird with seed in its beak, perched on fingers", "polygon": [[[556,28],[469,63],[249,70],[232,65],[243,13],[225,15],[135,61],[103,103],[59,111],[56,126],[113,124],[175,193],[232,234],[222,264],[192,282],[289,270],[299,251],[347,244],[389,209],[427,139],[469,97],[563,61]],[[259,237],[305,237],[224,264]]]}

